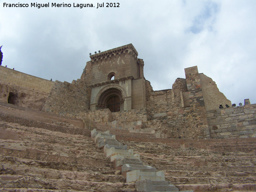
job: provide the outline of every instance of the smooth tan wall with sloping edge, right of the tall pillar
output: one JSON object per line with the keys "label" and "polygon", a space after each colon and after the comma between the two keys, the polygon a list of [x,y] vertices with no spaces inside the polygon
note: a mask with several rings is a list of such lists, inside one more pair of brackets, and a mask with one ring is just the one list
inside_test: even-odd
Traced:
{"label": "smooth tan wall with sloping edge, right of the tall pillar", "polygon": [[220,105],[225,106],[228,104],[232,106],[231,101],[228,100],[225,95],[219,91],[217,85],[212,78],[207,77],[203,73],[199,74],[202,92],[204,97],[204,105],[206,111],[218,109]]}

